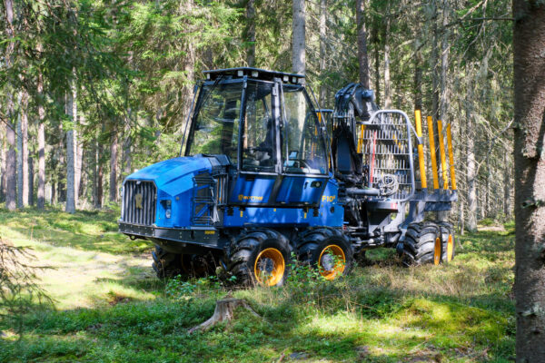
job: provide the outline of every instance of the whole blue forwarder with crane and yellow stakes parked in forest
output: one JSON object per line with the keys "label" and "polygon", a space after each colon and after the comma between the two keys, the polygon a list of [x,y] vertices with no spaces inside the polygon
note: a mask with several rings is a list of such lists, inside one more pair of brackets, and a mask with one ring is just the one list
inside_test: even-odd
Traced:
{"label": "whole blue forwarder with crane and yellow stakes parked in forest", "polygon": [[[446,187],[436,167],[433,190],[422,167],[415,182],[413,144],[424,165],[420,114],[415,131],[405,113],[379,110],[355,83],[336,93],[334,110],[322,110],[300,74],[204,74],[184,156],[123,185],[119,230],[154,243],[159,277],[219,268],[238,283],[282,285],[294,254],[332,280],[380,246],[406,264],[453,258],[451,225],[423,221],[425,211],[450,210],[457,194],[442,137]],[[450,137],[448,150],[452,164]]]}

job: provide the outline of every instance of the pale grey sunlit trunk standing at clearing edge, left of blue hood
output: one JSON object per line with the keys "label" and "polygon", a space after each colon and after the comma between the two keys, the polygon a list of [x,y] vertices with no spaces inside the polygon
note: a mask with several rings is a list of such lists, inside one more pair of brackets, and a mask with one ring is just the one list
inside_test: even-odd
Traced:
{"label": "pale grey sunlit trunk standing at clearing edge, left of blue hood", "polygon": [[77,136],[75,126],[77,123],[77,95],[75,91],[75,80],[70,83],[70,90],[66,93],[66,114],[70,118],[71,127],[66,132],[66,211],[75,212],[75,159]]}

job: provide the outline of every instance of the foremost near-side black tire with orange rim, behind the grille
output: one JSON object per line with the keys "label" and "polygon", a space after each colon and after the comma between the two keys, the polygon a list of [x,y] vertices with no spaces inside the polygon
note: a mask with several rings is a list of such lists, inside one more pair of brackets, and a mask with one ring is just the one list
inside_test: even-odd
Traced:
{"label": "foremost near-side black tire with orange rim, behind the grille", "polygon": [[291,252],[289,241],[277,231],[245,232],[228,250],[227,276],[234,276],[233,282],[238,285],[282,286],[288,275]]}

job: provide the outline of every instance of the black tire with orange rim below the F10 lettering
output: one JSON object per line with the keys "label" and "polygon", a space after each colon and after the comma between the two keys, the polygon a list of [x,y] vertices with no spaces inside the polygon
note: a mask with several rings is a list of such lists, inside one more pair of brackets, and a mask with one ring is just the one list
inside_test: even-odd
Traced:
{"label": "black tire with orange rim below the F10 lettering", "polygon": [[318,268],[326,280],[334,280],[352,269],[353,250],[350,241],[341,231],[320,228],[302,234],[297,258],[302,263]]}

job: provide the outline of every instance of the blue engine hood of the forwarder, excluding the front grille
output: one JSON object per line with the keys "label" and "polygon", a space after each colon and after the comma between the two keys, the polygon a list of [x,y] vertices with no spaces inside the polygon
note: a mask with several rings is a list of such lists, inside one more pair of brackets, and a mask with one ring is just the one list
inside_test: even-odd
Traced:
{"label": "blue engine hood of the forwarder, excluding the front grille", "polygon": [[[182,157],[157,162],[134,172],[126,179],[155,183],[157,227],[190,227],[193,212],[193,177],[201,172],[212,172],[212,164],[208,158]],[[166,218],[169,203],[171,216]]]}

